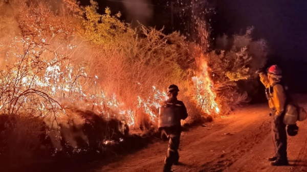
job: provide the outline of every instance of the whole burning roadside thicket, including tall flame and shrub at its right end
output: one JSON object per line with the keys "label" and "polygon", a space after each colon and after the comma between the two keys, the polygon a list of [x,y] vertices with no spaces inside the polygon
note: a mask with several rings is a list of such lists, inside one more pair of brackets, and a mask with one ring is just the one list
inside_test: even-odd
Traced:
{"label": "whole burning roadside thicket, including tall flame and shrub at its right end", "polygon": [[202,44],[195,44],[178,32],[133,29],[120,13],[99,14],[94,1],[59,4],[0,0],[1,9],[14,9],[0,14],[0,114],[16,116],[3,131],[19,135],[19,124],[26,131],[37,124],[29,137],[46,136],[57,151],[103,152],[128,129],[155,131],[163,90],[173,83],[190,120],[224,113],[245,99],[235,81],[249,78],[265,59],[255,51],[265,51],[265,42],[251,41],[250,30],[234,36],[231,48],[209,51],[205,26]]}

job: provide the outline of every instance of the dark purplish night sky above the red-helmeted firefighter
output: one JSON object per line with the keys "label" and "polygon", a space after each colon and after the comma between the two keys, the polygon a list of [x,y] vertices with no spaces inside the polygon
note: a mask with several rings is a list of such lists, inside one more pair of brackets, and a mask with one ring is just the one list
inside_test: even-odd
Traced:
{"label": "dark purplish night sky above the red-helmeted firefighter", "polygon": [[[233,33],[248,26],[255,36],[268,41],[271,55],[307,61],[307,1],[234,0],[218,1],[216,26]],[[223,27],[223,24],[226,27]]]}

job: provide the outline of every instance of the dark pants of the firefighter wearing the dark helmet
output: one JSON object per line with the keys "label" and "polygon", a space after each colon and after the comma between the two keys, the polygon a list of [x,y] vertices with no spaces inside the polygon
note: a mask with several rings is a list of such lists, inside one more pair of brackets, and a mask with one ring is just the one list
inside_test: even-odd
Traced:
{"label": "dark pants of the firefighter wearing the dark helmet", "polygon": [[173,163],[177,163],[179,160],[179,143],[180,143],[180,135],[181,135],[181,129],[164,129],[162,130],[164,134],[168,138],[168,149],[167,149],[167,155],[165,158],[165,165],[164,169],[170,170]]}

